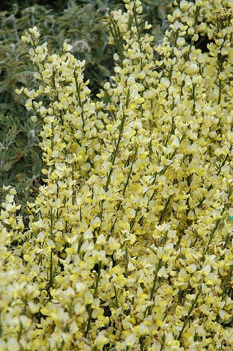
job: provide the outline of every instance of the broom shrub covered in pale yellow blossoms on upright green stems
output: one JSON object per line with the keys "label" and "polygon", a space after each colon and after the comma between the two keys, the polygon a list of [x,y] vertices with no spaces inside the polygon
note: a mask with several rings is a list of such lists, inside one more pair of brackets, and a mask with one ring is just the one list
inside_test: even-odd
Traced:
{"label": "broom shrub covered in pale yellow blossoms on upright green stems", "polygon": [[233,348],[233,1],[175,0],[155,47],[124,2],[95,99],[70,44],[22,37],[41,85],[17,92],[47,168],[27,218],[4,187],[2,351]]}

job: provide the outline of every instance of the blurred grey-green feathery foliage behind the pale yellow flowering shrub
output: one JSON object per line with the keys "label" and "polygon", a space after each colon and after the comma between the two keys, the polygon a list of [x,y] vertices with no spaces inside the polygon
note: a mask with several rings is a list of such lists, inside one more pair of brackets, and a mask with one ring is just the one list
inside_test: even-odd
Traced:
{"label": "blurred grey-green feathery foliage behind the pale yellow flowering shrub", "polygon": [[[171,0],[143,0],[143,18],[152,24],[159,42],[168,26]],[[36,88],[35,67],[21,35],[33,26],[41,32],[51,52],[61,53],[63,41],[73,45],[72,54],[86,59],[85,78],[92,98],[113,72],[116,48],[108,45],[103,19],[111,10],[124,8],[121,0],[3,0],[0,2],[0,198],[2,185],[15,186],[24,211],[37,194],[41,179],[39,132],[42,121],[33,122],[24,98],[15,89]]]}

